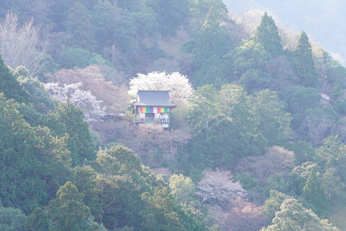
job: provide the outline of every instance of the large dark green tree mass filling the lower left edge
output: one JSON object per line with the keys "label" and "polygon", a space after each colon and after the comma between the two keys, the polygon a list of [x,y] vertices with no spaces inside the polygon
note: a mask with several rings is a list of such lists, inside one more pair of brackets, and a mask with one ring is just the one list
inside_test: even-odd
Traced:
{"label": "large dark green tree mass filling the lower left edge", "polygon": [[41,141],[17,111],[14,100],[0,94],[0,195],[6,207],[20,207],[31,212],[47,199],[46,183],[39,177],[47,174],[40,161]]}

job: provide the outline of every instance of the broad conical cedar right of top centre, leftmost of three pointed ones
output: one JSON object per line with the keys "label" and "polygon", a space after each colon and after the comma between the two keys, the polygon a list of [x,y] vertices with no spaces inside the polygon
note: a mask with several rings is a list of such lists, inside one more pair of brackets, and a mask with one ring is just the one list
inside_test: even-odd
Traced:
{"label": "broad conical cedar right of top centre, leftmost of three pointed ones", "polygon": [[220,30],[219,17],[214,7],[211,7],[201,28],[192,63],[195,69],[199,69],[210,57],[222,57],[226,52],[227,44],[224,33]]}

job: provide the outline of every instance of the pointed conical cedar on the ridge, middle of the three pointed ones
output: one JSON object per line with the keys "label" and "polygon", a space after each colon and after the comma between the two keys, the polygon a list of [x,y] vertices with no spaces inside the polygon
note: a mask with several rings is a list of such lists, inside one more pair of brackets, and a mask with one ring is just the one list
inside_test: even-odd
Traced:
{"label": "pointed conical cedar on the ridge, middle of the three pointed ones", "polygon": [[272,58],[278,57],[283,52],[281,37],[276,24],[272,16],[268,16],[267,12],[262,16],[261,23],[251,39],[255,43],[261,43]]}

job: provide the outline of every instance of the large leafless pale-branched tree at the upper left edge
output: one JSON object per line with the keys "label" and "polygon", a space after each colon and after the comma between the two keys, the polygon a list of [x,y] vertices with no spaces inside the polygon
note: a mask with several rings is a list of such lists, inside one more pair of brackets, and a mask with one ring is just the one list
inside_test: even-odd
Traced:
{"label": "large leafless pale-branched tree at the upper left edge", "polygon": [[47,64],[43,59],[47,44],[48,40],[43,46],[40,44],[39,30],[34,27],[33,20],[20,26],[18,15],[7,13],[0,22],[0,53],[13,69],[25,66],[35,75]]}

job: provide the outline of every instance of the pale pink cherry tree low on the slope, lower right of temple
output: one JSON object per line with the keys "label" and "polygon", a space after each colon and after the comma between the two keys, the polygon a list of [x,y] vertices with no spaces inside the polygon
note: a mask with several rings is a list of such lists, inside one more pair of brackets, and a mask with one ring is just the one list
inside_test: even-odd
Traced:
{"label": "pale pink cherry tree low on the slope, lower right of temple", "polygon": [[247,195],[239,182],[232,181],[228,171],[203,171],[204,178],[198,182],[197,195],[201,203],[227,209],[231,199]]}

